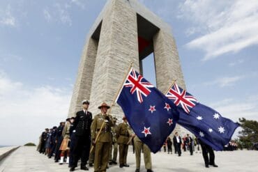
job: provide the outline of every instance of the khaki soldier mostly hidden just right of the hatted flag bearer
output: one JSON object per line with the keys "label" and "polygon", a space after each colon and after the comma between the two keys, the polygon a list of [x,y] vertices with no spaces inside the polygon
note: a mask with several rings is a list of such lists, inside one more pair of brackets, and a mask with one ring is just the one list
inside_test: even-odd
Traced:
{"label": "khaki soldier mostly hidden just right of the hatted flag bearer", "polygon": [[[110,152],[109,152],[109,165],[117,164],[116,158],[117,158],[118,145],[116,142],[116,130],[117,130],[116,120],[117,120],[117,118],[113,118],[114,126],[111,127],[112,146],[110,146]],[[112,150],[113,150],[113,158],[112,158]]]}

